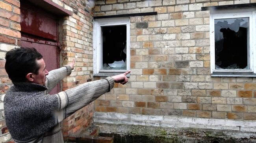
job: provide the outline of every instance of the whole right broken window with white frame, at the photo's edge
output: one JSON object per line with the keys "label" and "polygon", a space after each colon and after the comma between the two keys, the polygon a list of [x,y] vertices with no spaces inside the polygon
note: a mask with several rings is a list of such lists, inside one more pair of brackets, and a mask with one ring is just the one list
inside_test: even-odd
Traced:
{"label": "whole right broken window with white frame, at the photo's edge", "polygon": [[256,11],[210,11],[212,76],[255,76]]}

